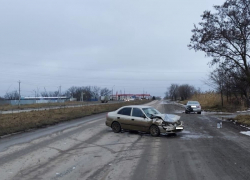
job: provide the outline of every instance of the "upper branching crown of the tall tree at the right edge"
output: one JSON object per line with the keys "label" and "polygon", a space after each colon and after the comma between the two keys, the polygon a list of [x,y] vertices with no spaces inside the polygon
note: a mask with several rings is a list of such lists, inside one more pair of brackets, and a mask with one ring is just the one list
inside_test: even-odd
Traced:
{"label": "upper branching crown of the tall tree at the right edge", "polygon": [[250,84],[250,0],[226,0],[214,9],[204,11],[188,47],[205,52],[211,65],[220,63],[225,71],[240,69]]}

